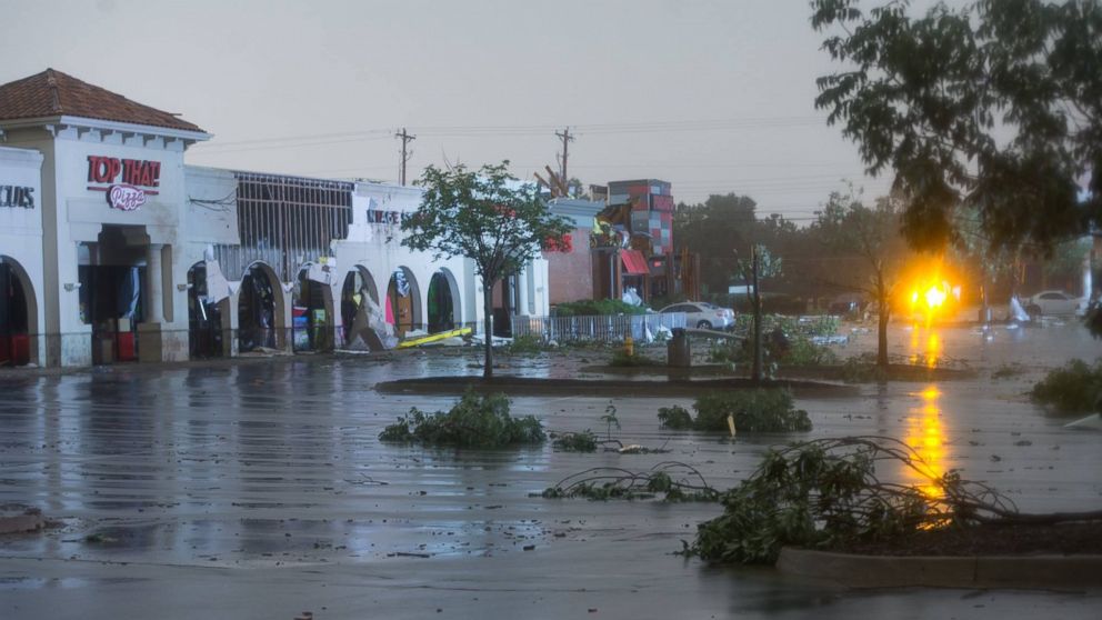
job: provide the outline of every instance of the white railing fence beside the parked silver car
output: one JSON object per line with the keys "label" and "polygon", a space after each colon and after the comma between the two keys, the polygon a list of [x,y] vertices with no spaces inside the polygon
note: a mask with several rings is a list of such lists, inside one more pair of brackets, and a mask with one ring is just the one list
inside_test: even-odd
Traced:
{"label": "white railing fence beside the parked silver car", "polygon": [[645,340],[647,332],[654,337],[659,328],[672,330],[685,327],[684,312],[665,314],[599,314],[595,317],[513,317],[513,338],[535,336],[544,341],[568,342],[594,340],[612,342],[631,334]]}

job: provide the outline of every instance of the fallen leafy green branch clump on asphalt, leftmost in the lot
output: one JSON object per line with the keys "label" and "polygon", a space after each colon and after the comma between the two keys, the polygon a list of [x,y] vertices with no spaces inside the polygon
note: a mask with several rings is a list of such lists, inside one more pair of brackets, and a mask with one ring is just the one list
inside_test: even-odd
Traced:
{"label": "fallen leafy green branch clump on asphalt, leftmost in the lot", "polygon": [[380,441],[467,448],[542,443],[545,439],[543,428],[534,417],[509,416],[505,394],[480,396],[474,390],[468,390],[447,413],[425,413],[411,408],[409,414],[400,417],[379,434]]}

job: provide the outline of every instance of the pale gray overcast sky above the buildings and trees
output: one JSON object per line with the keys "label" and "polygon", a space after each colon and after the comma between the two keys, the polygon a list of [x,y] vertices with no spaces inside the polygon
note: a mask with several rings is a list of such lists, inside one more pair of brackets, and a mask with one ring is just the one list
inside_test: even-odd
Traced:
{"label": "pale gray overcast sky above the buildings and trees", "polygon": [[408,127],[411,178],[444,158],[531,178],[570,126],[570,176],[679,201],[799,219],[843,178],[889,184],[814,110],[831,64],[805,0],[2,2],[0,82],[53,67],[179,112],[214,134],[194,164],[395,180]]}

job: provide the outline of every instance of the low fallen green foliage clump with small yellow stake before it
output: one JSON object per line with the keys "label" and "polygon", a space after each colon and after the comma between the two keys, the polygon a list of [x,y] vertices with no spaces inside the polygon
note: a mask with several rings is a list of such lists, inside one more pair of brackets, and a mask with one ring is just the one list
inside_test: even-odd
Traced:
{"label": "low fallen green foliage clump with small yellow stake before it", "polygon": [[[734,427],[747,432],[789,432],[811,430],[808,412],[792,404],[788,390],[760,389],[738,392],[711,392],[697,399],[692,406],[697,419],[689,417],[682,407],[662,408],[658,418],[671,429],[692,428],[699,431],[727,431],[727,418],[734,418]],[[691,422],[691,423],[689,423]],[[689,423],[689,426],[684,426]]]}

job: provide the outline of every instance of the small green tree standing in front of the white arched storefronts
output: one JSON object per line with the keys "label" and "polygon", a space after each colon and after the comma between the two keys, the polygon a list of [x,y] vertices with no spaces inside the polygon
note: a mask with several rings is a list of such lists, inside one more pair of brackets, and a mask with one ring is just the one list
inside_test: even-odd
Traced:
{"label": "small green tree standing in front of the white arched storefronts", "polygon": [[482,280],[485,367],[493,376],[493,288],[518,273],[541,249],[570,248],[570,223],[553,216],[539,189],[509,173],[509,162],[478,171],[458,164],[447,170],[429,166],[419,186],[420,208],[402,216],[402,246],[431,251],[433,258],[465,257]]}

